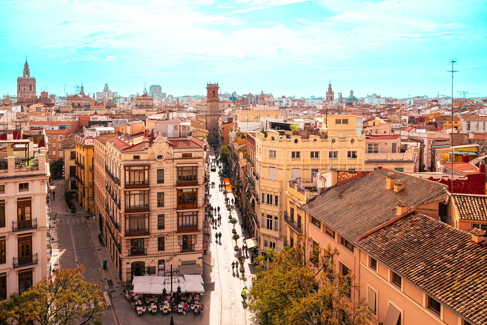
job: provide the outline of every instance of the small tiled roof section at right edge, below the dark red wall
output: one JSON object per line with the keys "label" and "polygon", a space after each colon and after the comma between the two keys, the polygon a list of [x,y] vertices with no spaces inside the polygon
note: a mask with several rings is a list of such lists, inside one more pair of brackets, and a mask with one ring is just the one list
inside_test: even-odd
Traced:
{"label": "small tiled roof section at right edge, below the dark red wall", "polygon": [[459,218],[487,221],[487,195],[451,194]]}

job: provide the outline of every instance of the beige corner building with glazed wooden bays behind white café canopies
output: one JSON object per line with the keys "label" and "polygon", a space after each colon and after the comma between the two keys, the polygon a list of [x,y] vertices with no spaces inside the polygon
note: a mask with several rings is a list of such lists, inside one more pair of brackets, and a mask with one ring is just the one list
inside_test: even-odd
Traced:
{"label": "beige corner building with glazed wooden bays behind white caf\u00e9 canopies", "polygon": [[95,214],[122,283],[165,275],[169,264],[202,272],[206,142],[132,132],[94,144]]}

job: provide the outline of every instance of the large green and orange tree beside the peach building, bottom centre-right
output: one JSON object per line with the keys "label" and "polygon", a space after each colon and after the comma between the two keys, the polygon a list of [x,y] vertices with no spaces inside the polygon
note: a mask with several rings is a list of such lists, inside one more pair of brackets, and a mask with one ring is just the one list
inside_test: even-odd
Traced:
{"label": "large green and orange tree beside the peach building, bottom centre-right", "polygon": [[[255,324],[367,324],[370,310],[365,299],[348,298],[358,290],[355,276],[342,275],[335,268],[339,251],[312,243],[307,235],[300,235],[292,248],[278,253],[267,250],[272,262],[266,270],[257,266],[248,295]],[[262,265],[263,257],[256,262]]]}

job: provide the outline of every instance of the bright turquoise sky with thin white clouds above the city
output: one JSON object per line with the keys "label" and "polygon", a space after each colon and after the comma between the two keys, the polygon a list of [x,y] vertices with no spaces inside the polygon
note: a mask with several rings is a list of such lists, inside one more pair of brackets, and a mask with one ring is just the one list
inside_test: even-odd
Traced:
{"label": "bright turquoise sky with thin white clouds above the city", "polygon": [[[487,1],[1,0],[0,94],[487,96]],[[478,94],[475,94],[478,93]],[[454,93],[462,97],[463,94]]]}

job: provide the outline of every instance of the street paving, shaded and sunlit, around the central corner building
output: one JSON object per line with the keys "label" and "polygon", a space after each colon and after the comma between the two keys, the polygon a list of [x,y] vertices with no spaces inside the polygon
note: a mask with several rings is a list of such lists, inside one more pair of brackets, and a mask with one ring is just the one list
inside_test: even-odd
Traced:
{"label": "street paving, shaded and sunlit, around the central corner building", "polygon": [[[213,149],[212,149],[213,150]],[[213,152],[213,151],[212,151]],[[211,156],[214,158],[214,156]],[[250,259],[244,264],[245,272],[232,272],[231,264],[236,262],[236,254],[233,249],[235,242],[231,239],[233,225],[228,222],[228,211],[225,209],[223,192],[218,190],[220,183],[218,170],[210,173],[210,182],[215,182],[215,188],[210,189],[212,206],[220,206],[222,224],[216,229],[211,229],[210,242],[207,255],[215,259],[214,267],[204,264],[203,280],[205,282],[205,294],[200,300],[205,305],[204,313],[194,315],[192,312],[173,314],[175,325],[211,324],[211,325],[247,325],[250,322],[250,313],[242,304],[240,296],[242,288],[248,289],[252,283],[250,275],[253,265]],[[123,289],[116,268],[112,264],[110,253],[105,246],[98,243],[98,220],[90,217],[90,214],[68,213],[67,206],[62,199],[64,182],[57,180],[51,183],[51,188],[56,192],[53,199],[51,195],[51,209],[57,213],[56,237],[53,243],[53,268],[75,267],[83,264],[85,267],[85,279],[92,283],[100,284],[107,298],[109,307],[105,312],[104,324],[107,325],[169,325],[170,315],[157,312],[156,315],[143,314],[137,317],[131,304],[124,298]],[[231,193],[228,194],[233,198]],[[75,204],[76,202],[73,201]],[[77,204],[79,206],[79,204]],[[241,235],[238,244],[242,246],[244,237],[240,223],[240,213],[232,212],[232,216],[238,215],[239,223],[235,225],[237,234]],[[215,232],[222,232],[222,240],[215,241]],[[249,252],[250,253],[250,252]],[[107,260],[107,269],[103,269],[103,260]]]}

